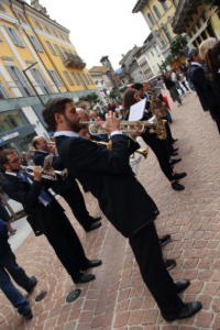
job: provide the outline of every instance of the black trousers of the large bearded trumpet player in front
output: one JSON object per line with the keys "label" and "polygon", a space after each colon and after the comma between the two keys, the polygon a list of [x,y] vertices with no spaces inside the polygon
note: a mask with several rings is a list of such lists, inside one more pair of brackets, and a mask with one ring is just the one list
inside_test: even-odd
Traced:
{"label": "black trousers of the large bearded trumpet player in front", "polygon": [[140,272],[162,312],[173,315],[184,302],[178,297],[169,273],[166,271],[154,223],[145,226],[129,239]]}

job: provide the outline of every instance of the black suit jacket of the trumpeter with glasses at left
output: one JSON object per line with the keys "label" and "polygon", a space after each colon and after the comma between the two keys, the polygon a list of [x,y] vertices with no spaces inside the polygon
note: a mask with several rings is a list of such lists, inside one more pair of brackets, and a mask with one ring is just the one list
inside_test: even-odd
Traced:
{"label": "black suit jacket of the trumpeter with glasses at left", "polygon": [[35,235],[40,235],[50,230],[48,224],[50,222],[53,223],[53,212],[56,212],[56,215],[59,211],[63,212],[62,207],[54,198],[47,207],[44,207],[38,201],[38,196],[43,189],[42,182],[33,182],[31,185],[16,176],[6,174],[2,188],[11,199],[22,204],[25,212],[28,213],[28,221]]}

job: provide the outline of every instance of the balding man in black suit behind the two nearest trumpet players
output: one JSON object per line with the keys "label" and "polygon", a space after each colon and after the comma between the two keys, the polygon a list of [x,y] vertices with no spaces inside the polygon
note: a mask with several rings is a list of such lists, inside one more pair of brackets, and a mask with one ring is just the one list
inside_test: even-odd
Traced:
{"label": "balding man in black suit behind the two nearest trumpet players", "polygon": [[[54,146],[50,146],[44,136],[35,136],[32,141],[32,144],[35,150],[33,156],[33,162],[35,165],[43,167],[45,158],[48,155],[52,155],[52,167],[54,169],[64,169],[61,160],[55,155]],[[101,217],[95,218],[89,215],[82,194],[74,178],[72,180],[68,178],[61,178],[57,182],[52,182],[52,188],[56,194],[64,197],[69,205],[76,220],[81,224],[85,231],[89,232],[101,227]]]}

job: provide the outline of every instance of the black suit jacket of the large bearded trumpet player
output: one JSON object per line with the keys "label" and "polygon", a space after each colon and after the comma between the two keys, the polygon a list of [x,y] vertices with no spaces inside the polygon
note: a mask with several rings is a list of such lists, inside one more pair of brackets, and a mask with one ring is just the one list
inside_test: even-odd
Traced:
{"label": "black suit jacket of the large bearded trumpet player", "polygon": [[120,134],[111,140],[111,151],[84,138],[57,136],[56,144],[69,176],[92,193],[124,237],[131,237],[155,219],[158,210],[130,167],[130,155],[139,143]]}

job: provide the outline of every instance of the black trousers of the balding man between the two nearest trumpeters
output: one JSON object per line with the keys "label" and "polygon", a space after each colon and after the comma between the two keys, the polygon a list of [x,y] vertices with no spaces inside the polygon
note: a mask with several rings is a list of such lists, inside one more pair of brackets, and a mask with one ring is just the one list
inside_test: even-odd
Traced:
{"label": "black trousers of the balding man between the two nearest trumpeters", "polygon": [[84,196],[76,180],[58,182],[53,187],[56,194],[59,194],[69,205],[76,220],[86,230],[91,224],[91,217],[86,208]]}

